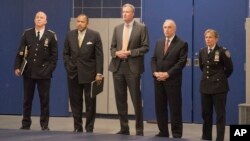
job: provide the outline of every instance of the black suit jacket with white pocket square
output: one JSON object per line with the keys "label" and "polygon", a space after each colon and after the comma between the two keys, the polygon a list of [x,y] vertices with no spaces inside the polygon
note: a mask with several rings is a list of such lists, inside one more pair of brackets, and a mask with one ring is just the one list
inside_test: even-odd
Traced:
{"label": "black suit jacket with white pocket square", "polygon": [[103,73],[103,49],[98,32],[86,29],[81,48],[78,45],[78,31],[70,31],[64,42],[64,66],[68,77],[78,76],[79,83],[90,83],[97,73]]}

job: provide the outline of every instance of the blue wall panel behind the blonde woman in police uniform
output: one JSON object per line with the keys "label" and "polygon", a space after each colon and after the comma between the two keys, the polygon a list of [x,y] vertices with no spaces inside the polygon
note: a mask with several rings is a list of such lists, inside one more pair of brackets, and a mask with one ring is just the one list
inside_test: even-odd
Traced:
{"label": "blue wall panel behind the blonde woman in police uniform", "polygon": [[[227,123],[238,123],[238,104],[245,102],[245,18],[247,1],[195,0],[194,3],[194,50],[204,47],[204,31],[213,28],[219,32],[219,44],[231,51],[234,72],[229,79],[227,98]],[[200,70],[194,68],[194,122],[201,122]]]}

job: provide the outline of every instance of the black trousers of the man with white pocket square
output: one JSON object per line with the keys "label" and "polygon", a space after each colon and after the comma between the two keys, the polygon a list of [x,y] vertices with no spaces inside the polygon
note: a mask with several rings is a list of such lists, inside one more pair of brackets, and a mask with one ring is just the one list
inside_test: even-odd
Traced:
{"label": "black trousers of the man with white pocket square", "polygon": [[78,77],[68,78],[69,100],[74,118],[74,129],[82,130],[83,92],[86,106],[86,131],[93,131],[96,116],[96,98],[90,97],[90,83],[79,84]]}

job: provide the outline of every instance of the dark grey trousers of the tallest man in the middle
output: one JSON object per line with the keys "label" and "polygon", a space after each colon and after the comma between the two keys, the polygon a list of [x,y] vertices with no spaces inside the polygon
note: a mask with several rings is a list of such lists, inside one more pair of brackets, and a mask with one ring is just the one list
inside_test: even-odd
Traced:
{"label": "dark grey trousers of the tallest man in the middle", "polygon": [[135,111],[136,133],[143,133],[143,113],[142,113],[142,98],[140,90],[140,74],[135,74],[130,71],[128,62],[121,62],[120,68],[113,73],[115,100],[120,117],[121,131],[129,131],[128,126],[128,103],[127,103],[127,88]]}

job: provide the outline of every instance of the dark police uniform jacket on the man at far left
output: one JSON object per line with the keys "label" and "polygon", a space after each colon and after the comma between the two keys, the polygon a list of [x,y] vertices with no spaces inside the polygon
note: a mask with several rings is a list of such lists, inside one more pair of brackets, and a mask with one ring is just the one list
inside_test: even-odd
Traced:
{"label": "dark police uniform jacket on the man at far left", "polygon": [[45,30],[40,40],[36,38],[35,28],[27,29],[21,38],[14,69],[21,67],[24,48],[27,46],[28,63],[23,72],[26,77],[34,79],[48,79],[56,68],[58,60],[57,38],[55,32]]}

